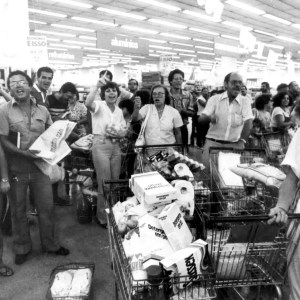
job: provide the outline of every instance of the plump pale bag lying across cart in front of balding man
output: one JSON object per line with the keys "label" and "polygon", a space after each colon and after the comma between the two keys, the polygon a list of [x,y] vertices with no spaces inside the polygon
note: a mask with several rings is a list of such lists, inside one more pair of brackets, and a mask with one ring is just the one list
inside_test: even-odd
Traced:
{"label": "plump pale bag lying across cart in front of balding man", "polygon": [[239,164],[232,166],[230,170],[249,180],[259,181],[266,186],[280,187],[285,179],[285,174],[279,169],[263,163]]}

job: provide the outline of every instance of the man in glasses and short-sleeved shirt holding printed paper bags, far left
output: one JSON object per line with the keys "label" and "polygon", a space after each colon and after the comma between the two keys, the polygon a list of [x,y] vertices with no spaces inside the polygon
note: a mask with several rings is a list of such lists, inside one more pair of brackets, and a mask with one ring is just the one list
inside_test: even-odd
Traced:
{"label": "man in glasses and short-sleeved shirt holding printed paper bags, far left", "polygon": [[8,196],[12,209],[15,263],[23,264],[32,248],[26,216],[26,196],[29,186],[39,213],[43,251],[55,255],[68,255],[69,250],[60,247],[54,237],[50,179],[34,163],[40,158],[28,150],[52,124],[50,114],[46,107],[38,105],[35,99],[31,98],[32,80],[24,72],[10,73],[7,86],[13,99],[0,107],[0,141],[8,154],[10,170],[11,189]]}

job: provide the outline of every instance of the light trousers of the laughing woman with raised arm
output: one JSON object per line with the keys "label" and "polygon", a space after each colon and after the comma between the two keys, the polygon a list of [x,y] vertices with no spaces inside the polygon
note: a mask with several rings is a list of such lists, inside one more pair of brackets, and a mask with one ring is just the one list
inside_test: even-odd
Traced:
{"label": "light trousers of the laughing woman with raised arm", "polygon": [[103,180],[119,179],[121,150],[118,142],[95,135],[92,154],[98,182],[97,218],[100,223],[106,223],[106,205],[102,182]]}

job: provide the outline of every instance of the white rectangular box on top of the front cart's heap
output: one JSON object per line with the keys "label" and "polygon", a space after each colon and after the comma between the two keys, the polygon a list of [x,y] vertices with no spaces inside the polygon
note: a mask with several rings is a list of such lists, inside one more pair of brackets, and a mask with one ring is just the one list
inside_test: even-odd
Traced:
{"label": "white rectangular box on top of the front cart's heap", "polygon": [[158,172],[135,174],[129,186],[141,203],[166,205],[176,200],[176,190]]}

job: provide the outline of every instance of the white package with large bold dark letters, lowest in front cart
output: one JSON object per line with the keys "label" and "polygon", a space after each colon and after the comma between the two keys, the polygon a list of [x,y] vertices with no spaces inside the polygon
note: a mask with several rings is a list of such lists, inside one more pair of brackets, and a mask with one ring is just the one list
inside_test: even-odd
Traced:
{"label": "white package with large bold dark letters, lowest in front cart", "polygon": [[188,276],[186,282],[180,282],[176,286],[178,289],[183,289],[196,280],[203,270],[207,269],[204,264],[206,254],[207,243],[199,239],[187,248],[166,257],[161,264],[166,271],[172,271],[174,276]]}

